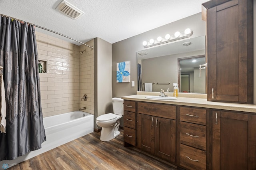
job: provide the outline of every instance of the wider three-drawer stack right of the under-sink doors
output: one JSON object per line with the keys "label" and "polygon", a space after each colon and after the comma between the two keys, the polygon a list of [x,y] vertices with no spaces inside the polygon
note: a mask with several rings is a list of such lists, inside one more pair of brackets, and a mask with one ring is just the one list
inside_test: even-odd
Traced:
{"label": "wider three-drawer stack right of the under-sink doors", "polygon": [[180,107],[180,166],[206,169],[206,109]]}

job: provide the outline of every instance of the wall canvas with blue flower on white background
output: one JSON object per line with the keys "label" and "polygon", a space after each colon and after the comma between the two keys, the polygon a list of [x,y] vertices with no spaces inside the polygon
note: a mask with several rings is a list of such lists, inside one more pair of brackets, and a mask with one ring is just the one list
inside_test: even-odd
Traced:
{"label": "wall canvas with blue flower on white background", "polygon": [[130,61],[116,63],[116,83],[130,82]]}

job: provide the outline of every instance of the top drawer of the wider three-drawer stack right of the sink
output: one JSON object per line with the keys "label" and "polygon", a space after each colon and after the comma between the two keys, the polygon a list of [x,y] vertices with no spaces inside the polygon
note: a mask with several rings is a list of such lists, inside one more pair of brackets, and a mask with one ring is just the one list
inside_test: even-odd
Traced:
{"label": "top drawer of the wider three-drawer stack right of the sink", "polygon": [[206,125],[206,109],[180,107],[180,121]]}

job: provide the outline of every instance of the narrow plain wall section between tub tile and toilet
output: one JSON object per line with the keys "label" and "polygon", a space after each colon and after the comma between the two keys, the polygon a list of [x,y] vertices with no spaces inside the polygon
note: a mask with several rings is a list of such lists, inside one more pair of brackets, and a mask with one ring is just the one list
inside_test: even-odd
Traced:
{"label": "narrow plain wall section between tub tile and toilet", "polygon": [[[112,113],[112,44],[94,39],[94,119]],[[99,129],[95,123],[95,128]]]}

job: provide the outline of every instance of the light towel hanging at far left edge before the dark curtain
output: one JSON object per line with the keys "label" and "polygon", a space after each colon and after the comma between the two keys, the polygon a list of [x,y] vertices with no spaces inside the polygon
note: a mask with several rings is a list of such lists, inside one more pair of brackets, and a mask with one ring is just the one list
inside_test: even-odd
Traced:
{"label": "light towel hanging at far left edge before the dark curtain", "polygon": [[5,101],[5,90],[4,90],[4,76],[0,75],[0,131],[5,132],[6,127],[6,101]]}

